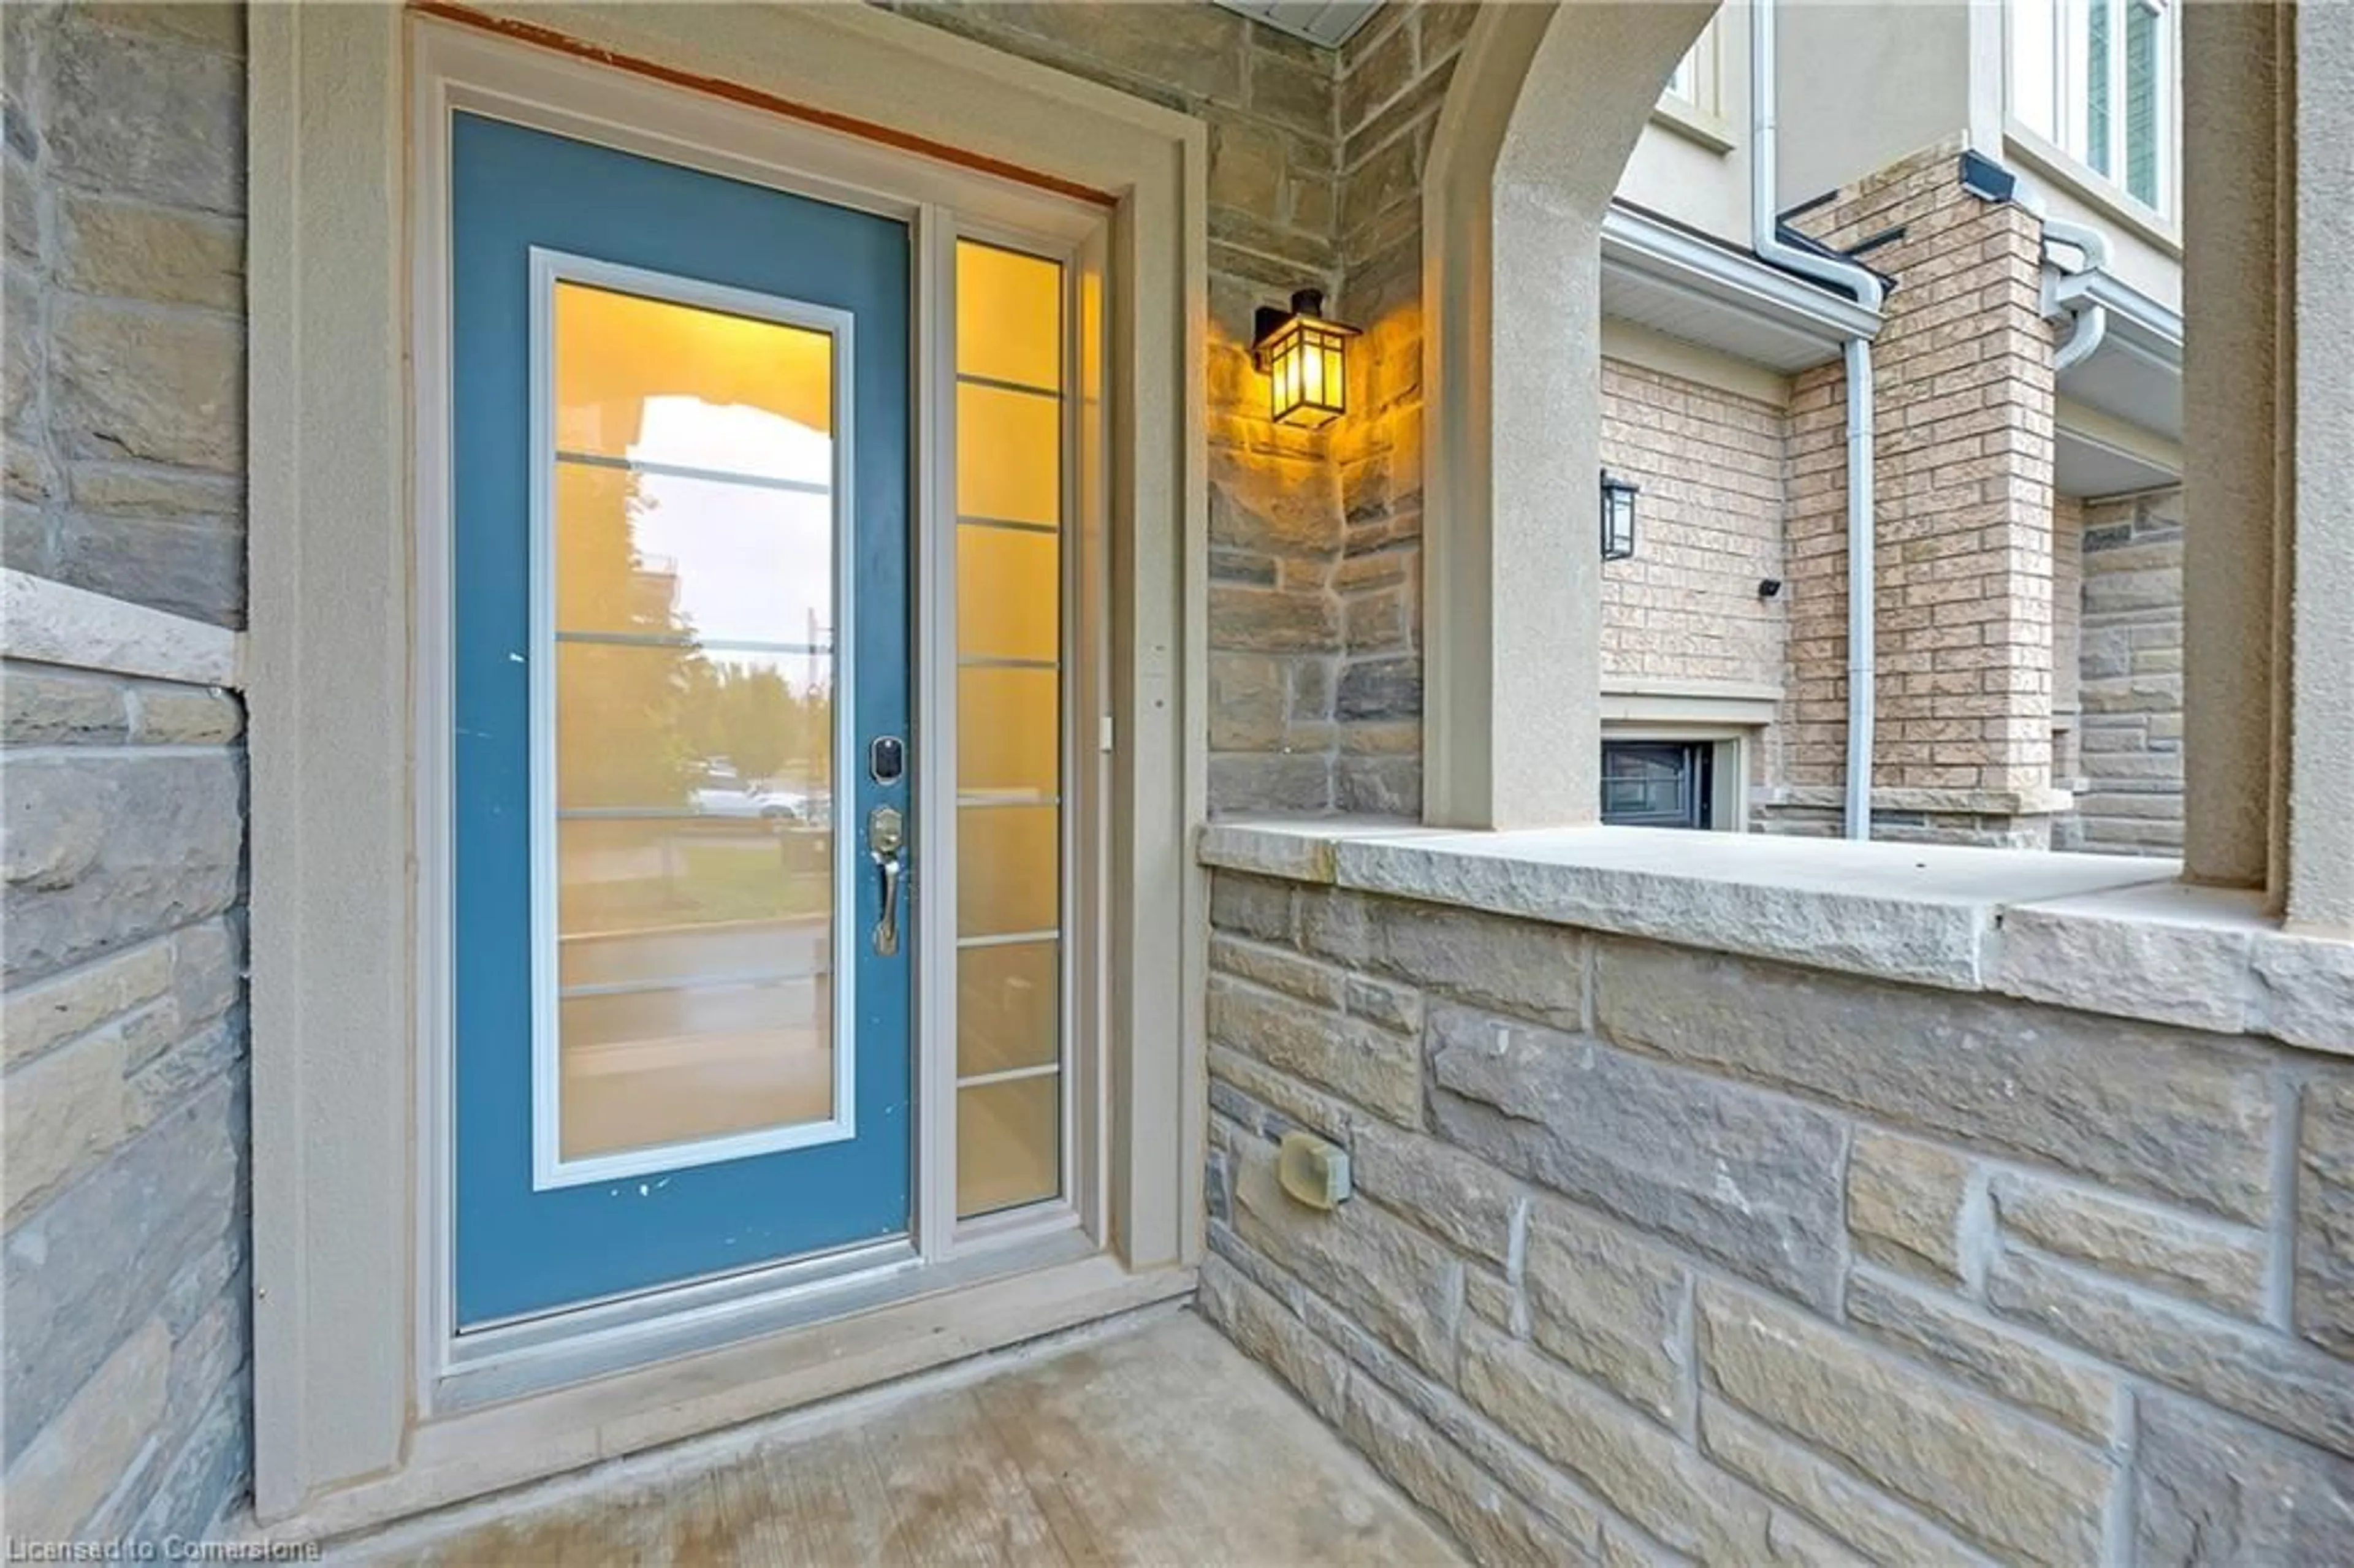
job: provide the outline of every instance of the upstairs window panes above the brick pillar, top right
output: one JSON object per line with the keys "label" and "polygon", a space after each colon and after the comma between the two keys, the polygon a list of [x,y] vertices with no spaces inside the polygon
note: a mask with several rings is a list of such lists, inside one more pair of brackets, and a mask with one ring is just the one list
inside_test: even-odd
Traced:
{"label": "upstairs window panes above the brick pillar, top right", "polygon": [[2154,212],[2173,210],[2175,31],[2166,0],[2013,0],[2010,113]]}

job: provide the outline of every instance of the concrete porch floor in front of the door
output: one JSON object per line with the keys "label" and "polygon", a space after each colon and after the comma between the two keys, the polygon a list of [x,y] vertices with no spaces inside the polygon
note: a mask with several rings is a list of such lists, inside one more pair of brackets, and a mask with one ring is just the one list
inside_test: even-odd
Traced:
{"label": "concrete porch floor in front of the door", "polygon": [[1459,1563],[1193,1311],[395,1526],[346,1563]]}

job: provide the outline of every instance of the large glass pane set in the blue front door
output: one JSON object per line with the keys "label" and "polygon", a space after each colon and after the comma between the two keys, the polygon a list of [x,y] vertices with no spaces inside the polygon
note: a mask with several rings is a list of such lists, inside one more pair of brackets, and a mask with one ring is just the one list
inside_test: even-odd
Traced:
{"label": "large glass pane set in the blue front door", "polygon": [[556,283],[558,1149],[826,1123],[829,332]]}

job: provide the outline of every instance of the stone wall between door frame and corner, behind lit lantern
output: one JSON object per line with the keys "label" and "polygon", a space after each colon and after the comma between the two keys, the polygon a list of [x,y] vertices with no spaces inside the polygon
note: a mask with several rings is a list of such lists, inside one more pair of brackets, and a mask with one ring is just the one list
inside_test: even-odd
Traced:
{"label": "stone wall between door frame and corner, behind lit lantern", "polygon": [[1344,306],[1335,54],[1201,2],[892,9],[1210,127],[1210,808],[1330,810],[1363,704],[1339,664],[1410,633],[1398,605],[1377,626],[1349,603],[1328,436],[1269,421],[1250,337],[1299,287]]}

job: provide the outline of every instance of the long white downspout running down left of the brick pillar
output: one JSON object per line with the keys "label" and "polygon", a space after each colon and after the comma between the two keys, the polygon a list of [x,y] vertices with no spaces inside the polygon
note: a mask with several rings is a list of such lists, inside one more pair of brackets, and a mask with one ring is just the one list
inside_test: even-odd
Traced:
{"label": "long white downspout running down left of the brick pillar", "polygon": [[[1758,257],[1843,287],[1867,311],[1886,299],[1881,275],[1857,261],[1784,245],[1775,219],[1775,7],[1749,5],[1749,245]],[[1871,683],[1876,605],[1871,494],[1871,339],[1846,341],[1848,372],[1848,838],[1871,838]]]}

